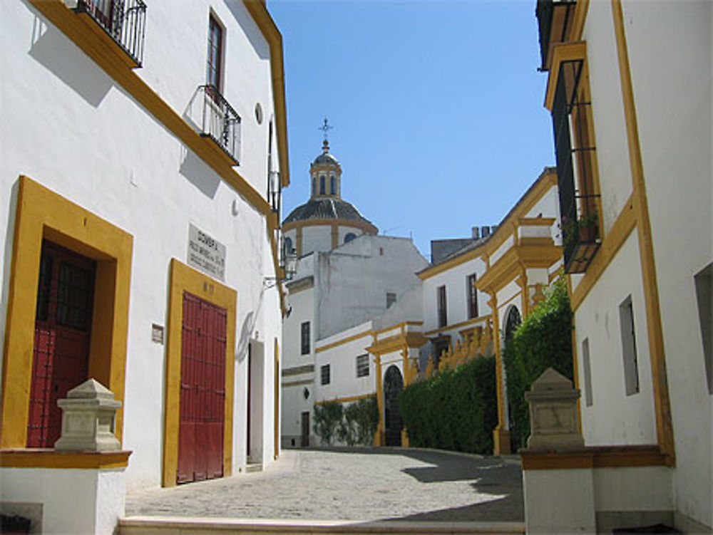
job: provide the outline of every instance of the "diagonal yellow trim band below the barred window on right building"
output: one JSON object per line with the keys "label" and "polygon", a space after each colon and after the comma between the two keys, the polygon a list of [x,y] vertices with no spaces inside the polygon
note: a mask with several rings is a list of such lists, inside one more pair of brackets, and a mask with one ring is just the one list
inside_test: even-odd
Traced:
{"label": "diagonal yellow trim band below the barred window on right building", "polygon": [[602,244],[589,264],[587,272],[580,280],[577,288],[572,292],[570,301],[572,310],[576,311],[584,301],[589,291],[596,284],[599,277],[604,273],[604,270],[610,264],[614,256],[617,254],[621,246],[629,237],[632,230],[636,226],[636,216],[634,212],[633,195],[629,197],[621,213],[617,216],[616,221],[609,229],[609,233],[602,240]]}

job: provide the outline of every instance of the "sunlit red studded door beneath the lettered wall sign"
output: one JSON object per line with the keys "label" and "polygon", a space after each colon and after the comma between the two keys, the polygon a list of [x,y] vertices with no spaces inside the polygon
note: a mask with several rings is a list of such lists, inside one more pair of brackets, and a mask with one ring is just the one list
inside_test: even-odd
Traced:
{"label": "sunlit red studded door beneath the lettered wall sign", "polygon": [[183,293],[178,483],[222,477],[227,312]]}

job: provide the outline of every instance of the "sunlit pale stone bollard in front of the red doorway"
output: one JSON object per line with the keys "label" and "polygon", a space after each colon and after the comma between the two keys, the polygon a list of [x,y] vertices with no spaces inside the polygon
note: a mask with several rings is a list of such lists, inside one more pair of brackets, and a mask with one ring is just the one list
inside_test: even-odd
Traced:
{"label": "sunlit pale stone bollard in front of the red doorway", "polygon": [[58,400],[62,410],[62,434],[54,443],[57,451],[119,451],[114,435],[116,411],[121,402],[96,380],[89,379]]}

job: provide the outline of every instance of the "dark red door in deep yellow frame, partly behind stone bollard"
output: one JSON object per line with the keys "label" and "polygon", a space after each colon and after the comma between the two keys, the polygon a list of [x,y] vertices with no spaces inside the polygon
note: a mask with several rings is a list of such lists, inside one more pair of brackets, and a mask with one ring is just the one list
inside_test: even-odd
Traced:
{"label": "dark red door in deep yellow frame, partly behind stone bollard", "polygon": [[42,244],[27,447],[52,447],[61,433],[57,400],[87,379],[94,262]]}

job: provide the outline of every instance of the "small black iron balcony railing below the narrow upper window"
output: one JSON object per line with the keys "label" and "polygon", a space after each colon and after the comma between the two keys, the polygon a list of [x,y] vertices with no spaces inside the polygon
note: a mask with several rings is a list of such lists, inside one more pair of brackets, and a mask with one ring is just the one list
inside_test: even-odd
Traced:
{"label": "small black iron balcony railing below the narrow upper window", "polygon": [[233,161],[240,163],[240,115],[215,88],[215,85],[200,85],[202,113],[200,135],[210,137]]}

